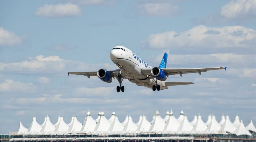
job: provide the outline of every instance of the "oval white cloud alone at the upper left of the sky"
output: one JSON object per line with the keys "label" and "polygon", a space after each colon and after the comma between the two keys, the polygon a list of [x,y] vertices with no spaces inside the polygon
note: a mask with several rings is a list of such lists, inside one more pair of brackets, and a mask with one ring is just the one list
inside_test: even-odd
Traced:
{"label": "oval white cloud alone at the upper left of the sky", "polygon": [[58,18],[80,16],[81,11],[79,6],[76,4],[45,4],[43,7],[39,7],[35,14],[37,16]]}

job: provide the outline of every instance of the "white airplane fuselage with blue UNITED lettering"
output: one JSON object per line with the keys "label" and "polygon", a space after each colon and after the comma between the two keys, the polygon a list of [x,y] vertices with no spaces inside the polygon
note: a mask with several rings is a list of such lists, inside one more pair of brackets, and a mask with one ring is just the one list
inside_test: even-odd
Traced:
{"label": "white airplane fuselage with blue UNITED lettering", "polygon": [[[152,68],[139,56],[124,46],[115,46],[110,52],[110,59],[122,68],[122,74],[129,79],[130,82],[138,86],[152,88],[156,85],[156,79],[149,79],[142,73],[142,68]],[[157,84],[161,89],[168,89],[164,81],[157,80]]]}

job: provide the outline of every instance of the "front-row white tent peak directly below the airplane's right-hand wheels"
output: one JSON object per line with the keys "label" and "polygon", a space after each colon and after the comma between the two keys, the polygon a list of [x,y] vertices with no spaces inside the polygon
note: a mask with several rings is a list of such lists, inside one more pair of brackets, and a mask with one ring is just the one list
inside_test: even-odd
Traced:
{"label": "front-row white tent peak directly below the airplane's right-hand wheels", "polygon": [[151,124],[149,131],[150,132],[161,132],[164,130],[165,126],[165,121],[164,119],[160,116],[159,112],[156,111],[155,119],[153,123]]}

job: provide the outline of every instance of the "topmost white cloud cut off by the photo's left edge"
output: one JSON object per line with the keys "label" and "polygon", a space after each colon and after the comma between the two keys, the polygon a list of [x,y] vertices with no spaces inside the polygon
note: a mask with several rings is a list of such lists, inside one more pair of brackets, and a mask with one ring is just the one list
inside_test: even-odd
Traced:
{"label": "topmost white cloud cut off by the photo's left edge", "polygon": [[22,38],[16,36],[14,33],[4,30],[0,27],[0,47],[1,46],[15,46],[22,43]]}

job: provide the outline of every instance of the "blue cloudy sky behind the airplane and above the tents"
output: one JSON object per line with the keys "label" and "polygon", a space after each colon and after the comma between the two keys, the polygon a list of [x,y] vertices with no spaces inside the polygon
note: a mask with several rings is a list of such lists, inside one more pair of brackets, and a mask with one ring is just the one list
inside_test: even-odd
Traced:
{"label": "blue cloudy sky behind the airplane and above the tents", "polygon": [[[236,114],[256,123],[256,2],[254,0],[4,0],[0,2],[0,133],[29,127],[49,115],[66,123],[87,109],[152,119],[183,109],[191,121]],[[227,66],[227,71],[171,76],[168,81],[194,82],[153,92],[124,81],[67,76],[67,71],[116,69],[110,50],[124,45],[151,66],[164,52],[167,67]],[[3,115],[4,114],[4,115]]]}

